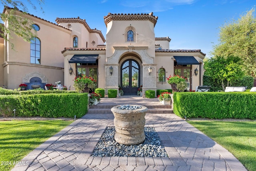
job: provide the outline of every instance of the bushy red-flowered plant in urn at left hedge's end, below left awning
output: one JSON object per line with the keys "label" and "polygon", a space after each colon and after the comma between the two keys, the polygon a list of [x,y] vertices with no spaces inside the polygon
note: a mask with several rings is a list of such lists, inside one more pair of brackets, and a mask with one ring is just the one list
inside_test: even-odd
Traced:
{"label": "bushy red-flowered plant in urn at left hedge's end, below left awning", "polygon": [[94,80],[93,78],[84,76],[82,74],[81,77],[75,77],[74,87],[75,87],[76,91],[78,91],[80,93],[82,93],[82,92],[89,93],[89,88],[94,88],[95,82],[96,82],[96,80]]}

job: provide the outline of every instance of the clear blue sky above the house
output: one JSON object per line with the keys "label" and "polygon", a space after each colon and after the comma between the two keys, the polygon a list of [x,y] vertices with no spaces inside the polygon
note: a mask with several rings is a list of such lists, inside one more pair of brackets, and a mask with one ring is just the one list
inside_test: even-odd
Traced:
{"label": "clear blue sky above the house", "polygon": [[[44,13],[28,6],[34,16],[56,23],[56,18],[85,19],[106,35],[108,13],[150,13],[158,16],[155,37],[171,38],[170,49],[201,49],[206,57],[218,44],[219,27],[237,20],[256,5],[255,0],[45,0]],[[38,6],[37,6],[38,7]],[[0,7],[2,12],[3,7]]]}

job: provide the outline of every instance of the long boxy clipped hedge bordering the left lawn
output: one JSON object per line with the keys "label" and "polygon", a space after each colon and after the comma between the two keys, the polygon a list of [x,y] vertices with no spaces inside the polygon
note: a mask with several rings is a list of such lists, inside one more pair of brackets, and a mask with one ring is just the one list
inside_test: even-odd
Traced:
{"label": "long boxy clipped hedge bordering the left lawn", "polygon": [[87,112],[88,93],[0,95],[3,116],[82,117]]}

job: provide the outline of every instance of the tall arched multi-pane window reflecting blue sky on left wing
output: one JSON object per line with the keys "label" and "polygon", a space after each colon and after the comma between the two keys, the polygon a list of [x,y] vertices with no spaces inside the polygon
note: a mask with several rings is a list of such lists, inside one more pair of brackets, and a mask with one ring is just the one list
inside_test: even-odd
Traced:
{"label": "tall arched multi-pane window reflecting blue sky on left wing", "polygon": [[38,38],[30,40],[30,63],[40,64],[41,42]]}

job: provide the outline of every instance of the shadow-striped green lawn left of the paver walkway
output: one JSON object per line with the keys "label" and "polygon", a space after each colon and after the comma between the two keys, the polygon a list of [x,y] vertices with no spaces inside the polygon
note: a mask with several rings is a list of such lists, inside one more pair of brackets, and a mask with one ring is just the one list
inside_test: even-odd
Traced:
{"label": "shadow-striped green lawn left of the paver walkway", "polygon": [[20,161],[30,151],[72,122],[0,121],[0,171],[10,170],[15,166],[13,162]]}

